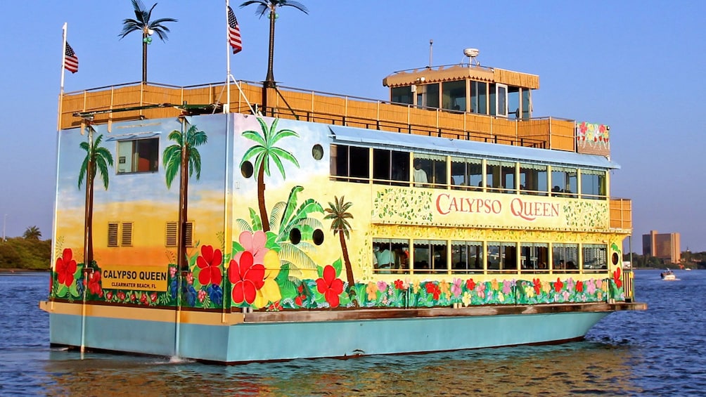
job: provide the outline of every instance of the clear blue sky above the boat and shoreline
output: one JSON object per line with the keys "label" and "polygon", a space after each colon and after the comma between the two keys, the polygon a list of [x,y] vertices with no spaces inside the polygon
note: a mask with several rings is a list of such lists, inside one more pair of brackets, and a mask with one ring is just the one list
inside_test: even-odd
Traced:
{"label": "clear blue sky above the boat and shoreline", "polygon": [[[144,1],[147,6],[154,4]],[[301,0],[282,8],[275,80],[282,86],[387,99],[382,79],[408,68],[464,60],[539,75],[534,116],[611,126],[622,166],[611,195],[633,200],[633,252],[650,230],[681,233],[681,249],[706,251],[706,2]],[[239,80],[265,78],[268,20],[233,1],[244,50]],[[148,80],[172,85],[225,80],[225,2],[160,0],[152,18],[177,18],[169,40],[149,47]],[[79,71],[64,90],[141,78],[141,37],[119,39],[128,0],[4,4],[0,221],[6,236],[37,226],[52,234],[61,26]],[[6,216],[5,216],[6,214]]]}

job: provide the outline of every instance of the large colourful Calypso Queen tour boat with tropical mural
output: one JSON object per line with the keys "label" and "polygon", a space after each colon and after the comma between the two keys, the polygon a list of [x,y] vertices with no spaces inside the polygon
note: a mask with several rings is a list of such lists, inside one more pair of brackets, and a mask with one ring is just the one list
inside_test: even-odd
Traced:
{"label": "large colourful Calypso Queen tour boat with tropical mural", "polygon": [[52,346],[348,358],[578,341],[646,309],[609,126],[535,117],[539,76],[472,57],[383,84],[63,93]]}

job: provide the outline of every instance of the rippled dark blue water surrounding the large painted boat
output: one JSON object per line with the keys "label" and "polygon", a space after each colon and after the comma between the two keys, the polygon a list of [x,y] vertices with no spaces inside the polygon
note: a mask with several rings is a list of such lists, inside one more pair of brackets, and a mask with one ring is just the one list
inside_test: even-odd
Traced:
{"label": "rippled dark blue water surrounding the large painted boat", "polygon": [[47,274],[0,274],[0,395],[704,395],[706,271],[637,271],[646,312],[616,312],[587,339],[349,360],[232,367],[49,348]]}

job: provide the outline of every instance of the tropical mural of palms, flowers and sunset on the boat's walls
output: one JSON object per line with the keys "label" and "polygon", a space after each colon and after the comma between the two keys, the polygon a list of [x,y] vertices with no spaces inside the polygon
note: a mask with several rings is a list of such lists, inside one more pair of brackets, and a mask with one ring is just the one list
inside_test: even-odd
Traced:
{"label": "tropical mural of palms, flowers and sunset on the boat's walls", "polygon": [[[461,204],[450,204],[453,197],[431,190],[330,181],[327,126],[239,114],[182,121],[116,123],[112,131],[95,126],[88,135],[78,129],[61,133],[52,298],[254,310],[624,300],[620,267],[611,267],[609,277],[372,274],[373,224],[469,224],[472,211],[461,211]],[[161,167],[112,171],[112,158],[123,157],[119,142],[148,138],[164,147]],[[181,163],[184,145],[186,164]],[[312,154],[319,149],[323,155]],[[87,152],[85,169],[79,164],[80,150]],[[91,154],[102,160],[90,160]],[[233,164],[232,169],[225,164]],[[181,173],[189,178],[176,189]],[[92,185],[95,176],[101,176],[102,189]],[[181,189],[189,193],[187,221],[193,222],[196,236],[184,254],[184,269],[178,267],[177,248],[164,242],[165,223],[179,216]],[[459,194],[468,195],[459,202],[472,199],[472,193]],[[527,202],[549,200],[530,206],[529,214],[505,195],[496,196],[484,197],[498,200],[509,215],[472,218],[474,226],[499,222],[511,228],[508,219],[530,216],[549,229],[606,228],[607,208],[596,200],[564,200],[561,207],[548,198],[523,197]],[[95,216],[85,218],[89,207]],[[459,215],[455,220],[448,216],[452,209]],[[89,219],[85,228],[84,219]],[[118,239],[116,246],[106,246],[111,223],[131,224],[132,241]],[[443,230],[450,238],[454,229]],[[100,241],[89,246],[88,255],[82,254],[85,236],[76,233],[83,230],[91,233],[89,242]],[[613,245],[613,252],[620,253]]]}

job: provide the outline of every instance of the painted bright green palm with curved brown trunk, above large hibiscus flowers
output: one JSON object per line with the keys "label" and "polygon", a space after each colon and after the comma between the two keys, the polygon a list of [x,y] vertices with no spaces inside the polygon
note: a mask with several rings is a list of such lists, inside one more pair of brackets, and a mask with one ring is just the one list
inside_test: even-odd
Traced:
{"label": "painted bright green palm with curved brown trunk, above large hibiscus flowers", "polygon": [[292,153],[287,152],[287,150],[282,149],[281,147],[275,146],[275,144],[277,144],[277,142],[282,138],[289,136],[299,138],[299,134],[294,132],[294,130],[288,129],[277,131],[277,121],[279,121],[279,119],[275,118],[272,122],[272,126],[268,127],[265,121],[258,117],[258,123],[260,123],[262,135],[253,130],[247,130],[243,133],[245,138],[257,142],[257,145],[251,147],[245,152],[245,154],[243,154],[243,159],[240,161],[240,166],[242,166],[251,157],[255,157],[253,169],[258,173],[258,206],[260,209],[260,221],[262,222],[263,231],[265,232],[270,230],[267,207],[265,206],[265,175],[270,176],[270,160],[275,163],[277,169],[280,170],[282,178],[286,178],[285,167],[282,165],[282,159],[291,161],[295,166],[299,167],[299,161],[297,161]]}

